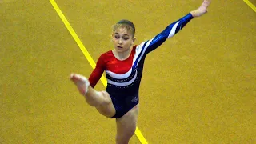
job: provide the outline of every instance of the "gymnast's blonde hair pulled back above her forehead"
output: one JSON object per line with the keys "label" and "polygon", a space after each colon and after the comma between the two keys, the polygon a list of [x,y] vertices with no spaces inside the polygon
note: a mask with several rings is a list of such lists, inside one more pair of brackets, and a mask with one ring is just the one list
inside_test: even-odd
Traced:
{"label": "gymnast's blonde hair pulled back above her forehead", "polygon": [[113,27],[113,31],[117,30],[119,27],[125,27],[128,31],[130,31],[133,35],[135,35],[135,26],[133,22],[130,22],[129,20],[122,19],[121,21],[117,22]]}

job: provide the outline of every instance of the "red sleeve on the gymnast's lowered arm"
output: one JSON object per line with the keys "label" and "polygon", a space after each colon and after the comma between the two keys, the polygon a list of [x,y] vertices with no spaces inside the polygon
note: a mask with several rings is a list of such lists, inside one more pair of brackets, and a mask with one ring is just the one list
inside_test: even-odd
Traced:
{"label": "red sleeve on the gymnast's lowered arm", "polygon": [[106,69],[103,54],[98,58],[94,71],[90,74],[89,82],[90,86],[96,86],[98,80],[102,77],[104,70]]}

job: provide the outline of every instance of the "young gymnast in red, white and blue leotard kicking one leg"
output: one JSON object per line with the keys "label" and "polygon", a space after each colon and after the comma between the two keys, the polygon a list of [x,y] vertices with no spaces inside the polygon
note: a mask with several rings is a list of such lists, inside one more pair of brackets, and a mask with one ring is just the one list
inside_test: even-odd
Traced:
{"label": "young gymnast in red, white and blue leotard kicking one leg", "polygon": [[[70,75],[71,81],[90,106],[96,107],[107,118],[116,118],[116,143],[128,143],[136,129],[138,88],[146,54],[177,34],[192,18],[206,14],[209,5],[210,0],[204,0],[197,10],[171,23],[160,34],[138,46],[134,46],[134,24],[128,20],[119,21],[113,28],[114,50],[107,51],[98,58],[89,80],[80,74]],[[94,90],[104,70],[107,79],[106,91]]]}

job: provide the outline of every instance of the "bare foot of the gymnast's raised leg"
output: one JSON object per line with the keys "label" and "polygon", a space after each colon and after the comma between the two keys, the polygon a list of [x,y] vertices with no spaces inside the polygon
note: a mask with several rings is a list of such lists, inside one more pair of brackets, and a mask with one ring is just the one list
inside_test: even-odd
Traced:
{"label": "bare foot of the gymnast's raised leg", "polygon": [[88,79],[81,74],[71,74],[70,80],[78,87],[80,94],[86,95],[90,82]]}

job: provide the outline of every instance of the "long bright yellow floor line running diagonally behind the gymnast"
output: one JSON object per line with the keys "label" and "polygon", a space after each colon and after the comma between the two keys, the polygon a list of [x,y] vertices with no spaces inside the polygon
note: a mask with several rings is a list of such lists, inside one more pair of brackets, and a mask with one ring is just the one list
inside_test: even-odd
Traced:
{"label": "long bright yellow floor line running diagonally behind the gymnast", "polygon": [[[80,38],[78,38],[78,35],[75,33],[74,29],[70,25],[70,22],[68,22],[65,15],[62,13],[62,10],[60,10],[60,8],[58,7],[57,3],[54,0],[50,0],[50,3],[52,6],[54,6],[54,9],[56,10],[58,16],[62,19],[62,22],[64,22],[67,30],[70,31],[70,34],[74,38],[75,42],[77,42],[79,48],[82,50],[82,53],[85,55],[86,59],[90,63],[90,66],[92,66],[94,69],[96,66],[94,59],[91,58],[89,52],[86,50],[86,47],[82,44]],[[102,81],[103,85],[106,87],[106,78],[103,75],[102,75],[101,81]],[[135,134],[138,137],[138,140],[142,144],[147,144],[146,139],[143,137],[143,135],[142,135],[141,131],[138,129],[138,127],[136,127]]]}

